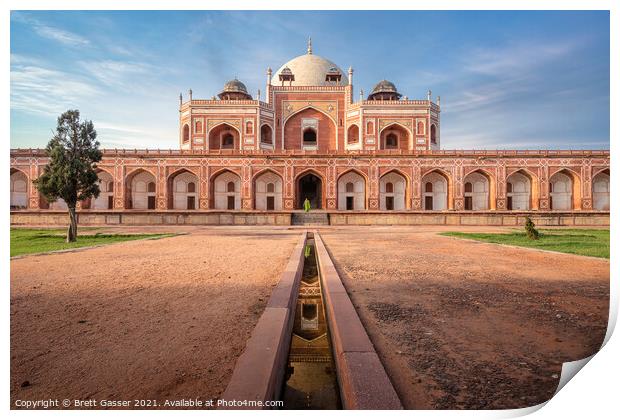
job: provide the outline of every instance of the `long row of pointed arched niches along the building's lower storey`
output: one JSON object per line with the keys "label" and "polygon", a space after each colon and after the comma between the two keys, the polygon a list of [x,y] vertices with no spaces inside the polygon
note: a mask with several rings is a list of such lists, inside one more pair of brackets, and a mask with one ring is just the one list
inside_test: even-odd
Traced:
{"label": "long row of pointed arched niches along the building's lower storey", "polygon": [[[230,129],[222,126],[221,137],[227,134]],[[478,169],[467,173],[460,183],[444,169],[426,170],[417,182],[411,181],[410,175],[391,170],[375,175],[376,187],[369,181],[368,170],[342,170],[333,185],[326,181],[323,171],[308,170],[294,177],[291,190],[287,190],[281,171],[258,171],[247,185],[241,172],[241,168],[222,170],[206,180],[198,170],[181,168],[158,182],[153,170],[136,169],[119,182],[112,176],[112,169],[99,170],[99,197],[80,203],[80,208],[286,211],[302,209],[306,199],[312,209],[338,211],[608,211],[610,205],[607,168],[594,172],[588,183],[566,168],[551,172],[547,181],[529,170],[514,169],[507,171],[504,182],[498,182],[495,174]],[[28,173],[11,170],[12,210],[66,209],[61,199],[45,203],[29,181]]]}

